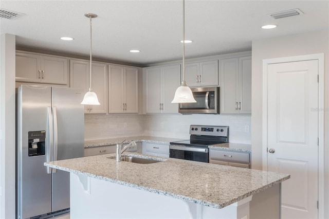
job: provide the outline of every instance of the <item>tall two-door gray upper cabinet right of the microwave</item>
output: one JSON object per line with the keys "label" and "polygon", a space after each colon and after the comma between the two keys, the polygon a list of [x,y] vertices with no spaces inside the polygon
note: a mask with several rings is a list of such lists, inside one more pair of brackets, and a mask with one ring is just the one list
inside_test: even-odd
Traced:
{"label": "tall two-door gray upper cabinet right of the microwave", "polygon": [[220,60],[221,114],[251,113],[251,57]]}

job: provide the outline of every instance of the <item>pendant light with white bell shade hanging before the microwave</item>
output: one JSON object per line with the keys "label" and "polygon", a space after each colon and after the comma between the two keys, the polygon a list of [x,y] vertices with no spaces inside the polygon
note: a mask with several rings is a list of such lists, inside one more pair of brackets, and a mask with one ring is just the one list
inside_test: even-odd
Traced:
{"label": "pendant light with white bell shade hanging before the microwave", "polygon": [[183,0],[183,80],[176,89],[172,103],[196,103],[192,90],[186,85],[185,81],[185,0]]}

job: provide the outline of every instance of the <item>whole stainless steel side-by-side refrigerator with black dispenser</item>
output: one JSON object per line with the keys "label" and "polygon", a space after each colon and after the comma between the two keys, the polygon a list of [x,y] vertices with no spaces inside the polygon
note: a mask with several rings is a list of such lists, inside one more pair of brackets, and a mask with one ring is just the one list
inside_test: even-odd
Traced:
{"label": "whole stainless steel side-by-side refrigerator with black dispenser", "polygon": [[83,90],[67,87],[17,89],[17,218],[69,211],[69,173],[44,162],[84,156],[83,95]]}

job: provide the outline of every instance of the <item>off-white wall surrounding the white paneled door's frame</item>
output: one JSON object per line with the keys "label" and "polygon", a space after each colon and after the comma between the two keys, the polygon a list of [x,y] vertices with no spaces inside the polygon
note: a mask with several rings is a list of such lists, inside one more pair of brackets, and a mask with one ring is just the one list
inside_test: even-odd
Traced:
{"label": "off-white wall surrounding the white paneled door's frame", "polygon": [[[324,160],[325,203],[329,206],[329,32],[315,31],[252,42],[252,168],[262,169],[262,61],[324,53]],[[329,209],[325,208],[325,218]]]}

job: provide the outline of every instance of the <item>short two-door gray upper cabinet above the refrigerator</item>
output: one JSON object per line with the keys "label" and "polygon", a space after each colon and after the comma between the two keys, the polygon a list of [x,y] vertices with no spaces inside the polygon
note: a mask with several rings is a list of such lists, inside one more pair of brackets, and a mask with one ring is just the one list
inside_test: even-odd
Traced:
{"label": "short two-door gray upper cabinet above the refrigerator", "polygon": [[68,58],[34,52],[16,52],[16,81],[29,83],[68,83]]}

